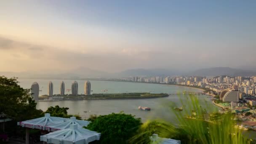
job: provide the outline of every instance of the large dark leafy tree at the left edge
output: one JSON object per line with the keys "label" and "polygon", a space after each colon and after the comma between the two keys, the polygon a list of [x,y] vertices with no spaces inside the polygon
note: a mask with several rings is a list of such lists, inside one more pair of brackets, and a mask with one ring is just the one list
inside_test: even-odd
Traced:
{"label": "large dark leafy tree at the left edge", "polygon": [[29,89],[21,88],[16,77],[0,76],[0,114],[16,121],[28,120],[42,116],[36,109]]}

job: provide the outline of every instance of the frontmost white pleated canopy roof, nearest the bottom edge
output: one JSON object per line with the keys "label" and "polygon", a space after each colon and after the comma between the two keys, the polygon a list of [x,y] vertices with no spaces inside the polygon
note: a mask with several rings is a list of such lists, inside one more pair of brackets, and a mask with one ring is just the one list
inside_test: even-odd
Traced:
{"label": "frontmost white pleated canopy roof, nearest the bottom edge", "polygon": [[40,140],[48,144],[88,144],[99,139],[100,133],[78,128],[77,124],[71,124],[67,129],[40,136]]}

